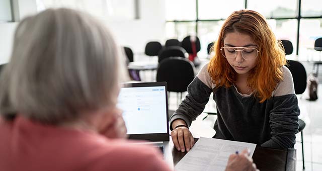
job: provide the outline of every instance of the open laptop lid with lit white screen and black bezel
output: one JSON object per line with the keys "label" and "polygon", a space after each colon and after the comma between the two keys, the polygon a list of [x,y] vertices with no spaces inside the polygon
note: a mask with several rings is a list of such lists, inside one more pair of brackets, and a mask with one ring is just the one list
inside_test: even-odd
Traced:
{"label": "open laptop lid with lit white screen and black bezel", "polygon": [[169,141],[167,82],[124,83],[117,107],[130,139]]}

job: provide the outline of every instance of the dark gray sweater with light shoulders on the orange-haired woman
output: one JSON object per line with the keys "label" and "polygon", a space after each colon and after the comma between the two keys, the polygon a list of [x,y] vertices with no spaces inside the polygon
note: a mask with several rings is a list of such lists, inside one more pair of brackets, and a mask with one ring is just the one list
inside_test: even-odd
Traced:
{"label": "dark gray sweater with light shoulders on the orange-haired woman", "polygon": [[263,147],[293,148],[300,114],[291,72],[283,66],[284,77],[272,97],[264,103],[251,95],[242,95],[232,85],[215,89],[203,66],[188,87],[188,95],[170,118],[170,123],[183,119],[188,126],[202,113],[209,96],[217,105],[218,118],[214,138],[255,143]]}

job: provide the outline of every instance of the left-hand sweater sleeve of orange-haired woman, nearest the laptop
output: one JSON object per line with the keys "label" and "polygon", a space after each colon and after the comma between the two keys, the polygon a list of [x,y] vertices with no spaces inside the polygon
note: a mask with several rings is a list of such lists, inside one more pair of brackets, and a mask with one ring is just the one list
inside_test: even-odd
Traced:
{"label": "left-hand sweater sleeve of orange-haired woman, nearest the laptop", "polygon": [[[207,65],[205,65],[194,78],[194,80],[188,86],[188,95],[185,97],[184,101],[181,102],[179,108],[170,118],[170,125],[176,119],[182,119],[186,122],[188,126],[191,122],[196,119],[198,115],[202,113],[206,104],[209,101],[209,96],[212,93],[211,81],[209,73],[206,71]],[[199,79],[204,79],[201,81]],[[208,82],[209,85],[206,85]],[[171,127],[172,130],[172,127]]]}

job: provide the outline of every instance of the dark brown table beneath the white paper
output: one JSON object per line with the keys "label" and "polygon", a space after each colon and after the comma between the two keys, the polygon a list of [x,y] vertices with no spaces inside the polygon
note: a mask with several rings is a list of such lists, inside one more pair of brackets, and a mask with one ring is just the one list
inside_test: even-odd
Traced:
{"label": "dark brown table beneath the white paper", "polygon": [[[195,138],[195,142],[198,139]],[[171,142],[172,143],[172,142]],[[172,143],[173,147],[173,143]],[[176,165],[187,152],[172,148],[174,165]],[[296,170],[296,149],[273,149],[257,146],[253,155],[257,168],[261,171],[291,171]]]}

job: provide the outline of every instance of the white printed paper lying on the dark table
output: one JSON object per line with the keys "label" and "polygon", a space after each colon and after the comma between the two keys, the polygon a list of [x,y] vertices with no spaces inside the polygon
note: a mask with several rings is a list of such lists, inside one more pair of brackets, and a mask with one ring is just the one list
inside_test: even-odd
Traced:
{"label": "white printed paper lying on the dark table", "polygon": [[192,149],[177,163],[176,171],[218,170],[224,171],[229,155],[245,148],[253,156],[256,144],[200,137]]}

